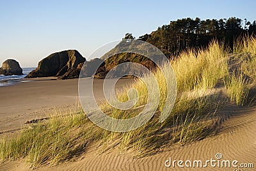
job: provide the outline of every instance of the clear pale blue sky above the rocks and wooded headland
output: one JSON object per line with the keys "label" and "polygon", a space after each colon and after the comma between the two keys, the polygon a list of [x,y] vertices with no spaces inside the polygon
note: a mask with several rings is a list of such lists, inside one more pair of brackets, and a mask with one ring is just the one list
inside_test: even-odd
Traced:
{"label": "clear pale blue sky above the rocks and wooded headland", "polygon": [[256,20],[255,1],[12,1],[0,0],[0,63],[16,59],[36,66],[52,52],[77,49],[86,59],[93,50],[136,38],[170,20],[186,17]]}

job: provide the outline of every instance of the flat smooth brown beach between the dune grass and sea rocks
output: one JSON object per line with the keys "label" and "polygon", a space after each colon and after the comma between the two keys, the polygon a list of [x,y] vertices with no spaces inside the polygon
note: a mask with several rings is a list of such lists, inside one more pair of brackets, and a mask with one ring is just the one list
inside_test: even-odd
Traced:
{"label": "flat smooth brown beach between the dune grass and sea rocks", "polygon": [[[20,130],[26,121],[47,117],[55,110],[74,111],[79,104],[78,79],[55,80],[54,77],[24,79],[13,85],[0,87],[0,133]],[[103,97],[102,79],[95,79],[95,98]],[[121,79],[122,88],[130,79]],[[84,85],[86,87],[86,85]],[[90,91],[90,89],[88,89]],[[90,101],[88,101],[90,102]]]}

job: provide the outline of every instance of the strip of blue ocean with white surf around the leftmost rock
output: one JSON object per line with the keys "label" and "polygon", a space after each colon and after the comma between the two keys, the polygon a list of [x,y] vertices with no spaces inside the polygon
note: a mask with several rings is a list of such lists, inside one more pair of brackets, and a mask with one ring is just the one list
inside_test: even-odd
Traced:
{"label": "strip of blue ocean with white surf around the leftmost rock", "polygon": [[36,67],[31,68],[22,68],[23,75],[0,75],[0,86],[4,85],[12,85],[15,82],[26,82],[25,80],[22,80],[22,78],[26,77],[32,70],[35,70]]}

